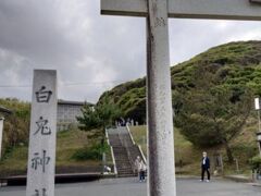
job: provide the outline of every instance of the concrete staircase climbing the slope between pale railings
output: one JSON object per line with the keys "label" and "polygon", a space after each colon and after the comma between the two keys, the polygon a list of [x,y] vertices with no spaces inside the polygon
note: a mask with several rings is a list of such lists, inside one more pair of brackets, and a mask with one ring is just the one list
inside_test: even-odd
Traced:
{"label": "concrete staircase climbing the slope between pale railings", "polygon": [[133,143],[126,127],[107,130],[112,146],[119,177],[135,176],[135,159],[141,156],[139,147]]}

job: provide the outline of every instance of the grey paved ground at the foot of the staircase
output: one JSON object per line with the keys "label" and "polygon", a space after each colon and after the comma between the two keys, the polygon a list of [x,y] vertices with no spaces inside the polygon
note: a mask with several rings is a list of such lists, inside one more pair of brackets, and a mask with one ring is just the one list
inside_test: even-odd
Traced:
{"label": "grey paved ground at the foot of the staircase", "polygon": [[[177,193],[178,196],[260,196],[261,187],[224,180],[211,183],[178,180]],[[25,196],[25,187],[0,187],[0,196]],[[55,196],[146,196],[146,183],[139,183],[136,179],[108,179],[60,184],[55,186]]]}

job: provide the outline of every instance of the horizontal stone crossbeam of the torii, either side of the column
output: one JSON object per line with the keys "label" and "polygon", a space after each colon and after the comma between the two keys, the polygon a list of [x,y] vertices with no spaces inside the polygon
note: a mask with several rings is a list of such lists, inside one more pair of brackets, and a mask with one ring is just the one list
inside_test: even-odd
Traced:
{"label": "horizontal stone crossbeam of the torii, either side of the column", "polygon": [[[166,0],[169,17],[260,21],[261,0]],[[147,0],[101,0],[101,13],[147,16]]]}

